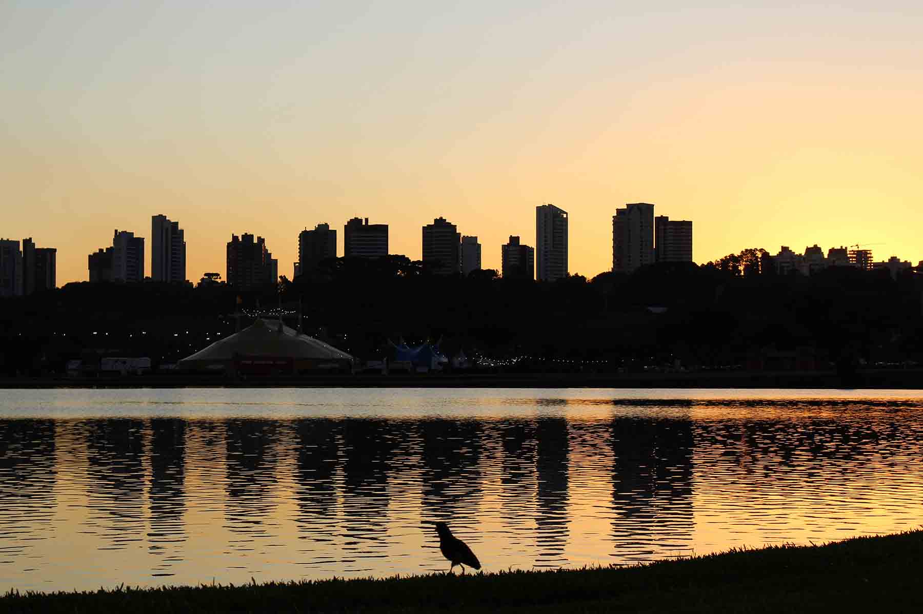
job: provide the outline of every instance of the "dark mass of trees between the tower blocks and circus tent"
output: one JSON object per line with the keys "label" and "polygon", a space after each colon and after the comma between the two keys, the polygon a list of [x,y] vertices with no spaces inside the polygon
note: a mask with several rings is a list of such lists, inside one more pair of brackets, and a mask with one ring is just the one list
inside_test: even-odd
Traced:
{"label": "dark mass of trees between the tower blocks and circus tent", "polygon": [[174,363],[232,334],[238,309],[247,325],[256,312],[280,306],[287,325],[297,326],[300,306],[307,334],[363,360],[390,355],[389,340],[401,338],[534,372],[721,368],[796,350],[819,366],[923,360],[923,277],[916,269],[896,278],[848,266],[776,275],[761,265],[764,252],[555,282],[503,278],[492,269],[438,275],[428,263],[392,255],[330,259],[294,280],[248,291],[70,283],[0,299],[0,373],[60,373],[67,360],[88,353]]}

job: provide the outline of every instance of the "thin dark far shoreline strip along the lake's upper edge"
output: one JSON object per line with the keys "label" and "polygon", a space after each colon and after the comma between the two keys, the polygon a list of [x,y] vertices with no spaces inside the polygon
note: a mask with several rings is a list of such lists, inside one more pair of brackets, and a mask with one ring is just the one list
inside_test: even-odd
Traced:
{"label": "thin dark far shoreline strip along the lake's upper edge", "polygon": [[6,388],[793,388],[923,389],[923,369],[859,371],[843,377],[812,372],[674,373],[471,373],[323,374],[229,379],[222,375],[160,374],[105,377],[19,377],[0,379]]}

